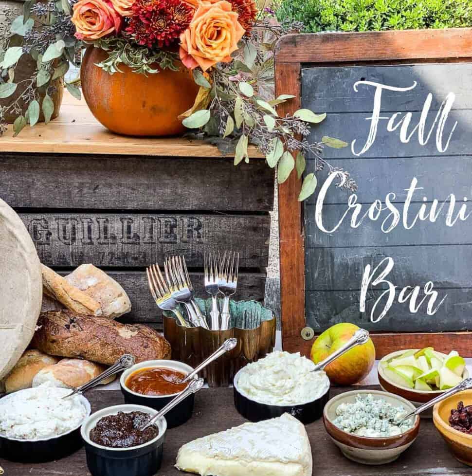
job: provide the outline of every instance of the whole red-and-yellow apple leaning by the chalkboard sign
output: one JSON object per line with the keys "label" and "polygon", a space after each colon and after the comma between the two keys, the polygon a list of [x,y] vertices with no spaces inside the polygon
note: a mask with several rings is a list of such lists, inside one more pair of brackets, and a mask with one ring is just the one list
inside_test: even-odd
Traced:
{"label": "whole red-and-yellow apple leaning by the chalkboard sign", "polygon": [[[359,328],[355,324],[342,322],[325,330],[313,343],[311,360],[317,364],[343,346]],[[375,362],[375,347],[371,339],[362,346],[348,350],[325,368],[332,384],[352,385],[360,382]]]}

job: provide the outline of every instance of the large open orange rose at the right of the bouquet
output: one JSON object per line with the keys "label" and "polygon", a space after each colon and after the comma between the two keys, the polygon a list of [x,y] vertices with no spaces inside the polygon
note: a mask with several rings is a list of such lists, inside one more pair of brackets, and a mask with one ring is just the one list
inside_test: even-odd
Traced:
{"label": "large open orange rose at the right of the bouquet", "polygon": [[244,33],[231,3],[202,1],[180,37],[182,63],[192,70],[200,66],[203,71],[219,62],[229,63]]}

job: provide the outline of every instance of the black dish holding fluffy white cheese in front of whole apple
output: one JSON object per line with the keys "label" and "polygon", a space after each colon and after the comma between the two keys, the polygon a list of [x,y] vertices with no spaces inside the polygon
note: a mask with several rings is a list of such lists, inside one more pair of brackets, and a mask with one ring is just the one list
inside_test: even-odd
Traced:
{"label": "black dish holding fluffy white cheese in front of whole apple", "polygon": [[329,387],[321,397],[301,405],[269,405],[268,403],[257,402],[246,397],[237,387],[239,374],[235,375],[233,382],[233,393],[235,398],[236,410],[247,420],[262,421],[282,416],[284,413],[290,413],[303,424],[308,425],[318,420],[323,415],[323,408],[329,400]]}

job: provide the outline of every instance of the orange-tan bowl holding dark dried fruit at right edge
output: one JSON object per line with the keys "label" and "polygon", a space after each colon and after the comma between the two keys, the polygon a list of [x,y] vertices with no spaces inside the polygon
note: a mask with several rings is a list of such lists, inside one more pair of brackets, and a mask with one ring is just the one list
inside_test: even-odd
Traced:
{"label": "orange-tan bowl holding dark dried fruit at right edge", "polygon": [[433,422],[454,457],[461,463],[472,466],[472,435],[454,430],[448,421],[451,410],[457,408],[457,403],[461,401],[465,406],[472,405],[472,390],[464,390],[436,403],[433,407]]}

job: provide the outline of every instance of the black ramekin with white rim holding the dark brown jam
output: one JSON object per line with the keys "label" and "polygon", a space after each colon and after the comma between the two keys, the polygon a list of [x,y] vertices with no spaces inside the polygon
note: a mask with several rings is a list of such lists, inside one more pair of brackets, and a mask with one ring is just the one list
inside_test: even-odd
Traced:
{"label": "black ramekin with white rim holding the dark brown jam", "polygon": [[92,476],[152,476],[161,467],[163,444],[167,423],[160,418],[156,426],[159,434],[147,443],[131,448],[108,448],[91,441],[90,431],[95,428],[97,421],[107,415],[118,412],[145,412],[154,416],[157,412],[142,405],[114,405],[99,410],[91,415],[80,429],[85,445],[87,466]]}

